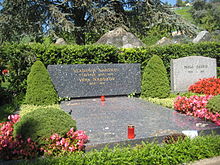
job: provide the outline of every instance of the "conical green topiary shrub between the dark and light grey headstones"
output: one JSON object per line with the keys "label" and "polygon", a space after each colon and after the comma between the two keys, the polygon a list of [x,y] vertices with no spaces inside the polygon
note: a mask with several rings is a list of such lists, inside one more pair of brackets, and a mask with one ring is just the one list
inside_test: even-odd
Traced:
{"label": "conical green topiary shrub between the dark and light grey headstones", "polygon": [[169,92],[170,86],[166,68],[162,59],[154,55],[144,69],[141,95],[143,97],[166,98]]}

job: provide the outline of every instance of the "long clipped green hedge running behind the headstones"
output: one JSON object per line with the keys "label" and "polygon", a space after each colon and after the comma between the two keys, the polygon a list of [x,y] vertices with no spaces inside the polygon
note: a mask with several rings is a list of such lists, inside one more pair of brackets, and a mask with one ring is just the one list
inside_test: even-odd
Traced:
{"label": "long clipped green hedge running behind the headstones", "polygon": [[220,43],[175,44],[136,49],[118,49],[107,45],[45,45],[4,44],[0,45],[0,56],[9,65],[11,89],[23,92],[30,67],[36,59],[49,64],[97,64],[97,63],[141,63],[144,68],[148,60],[158,55],[170,71],[170,59],[185,56],[216,58],[220,66]]}

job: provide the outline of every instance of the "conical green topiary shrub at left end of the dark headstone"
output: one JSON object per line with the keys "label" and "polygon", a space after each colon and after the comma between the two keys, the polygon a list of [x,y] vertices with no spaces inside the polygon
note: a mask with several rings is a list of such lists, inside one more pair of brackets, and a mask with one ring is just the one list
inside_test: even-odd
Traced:
{"label": "conical green topiary shrub at left end of the dark headstone", "polygon": [[51,105],[57,103],[58,96],[49,73],[41,61],[36,61],[27,78],[26,104]]}

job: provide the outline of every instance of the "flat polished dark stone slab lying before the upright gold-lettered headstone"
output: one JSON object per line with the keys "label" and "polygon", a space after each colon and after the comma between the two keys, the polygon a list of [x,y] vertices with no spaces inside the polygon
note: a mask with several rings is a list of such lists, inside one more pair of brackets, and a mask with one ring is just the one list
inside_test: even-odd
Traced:
{"label": "flat polished dark stone slab lying before the upright gold-lettered headstone", "polygon": [[[106,97],[73,99],[61,107],[76,120],[77,128],[84,130],[90,142],[87,150],[102,148],[106,144],[141,144],[142,141],[162,140],[162,137],[183,130],[196,130],[199,135],[213,132],[220,134],[220,127],[192,116],[186,116],[138,98]],[[127,127],[135,126],[136,137],[127,139]]]}

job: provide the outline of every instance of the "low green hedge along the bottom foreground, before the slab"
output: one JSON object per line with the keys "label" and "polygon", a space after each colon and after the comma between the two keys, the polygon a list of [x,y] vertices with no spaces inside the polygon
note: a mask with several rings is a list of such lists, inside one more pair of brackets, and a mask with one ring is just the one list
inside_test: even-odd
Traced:
{"label": "low green hedge along the bottom foreground, before the slab", "polygon": [[186,138],[175,144],[143,143],[141,146],[104,148],[101,151],[73,153],[57,158],[44,158],[35,161],[21,161],[27,165],[56,164],[184,164],[198,159],[220,155],[220,136]]}

